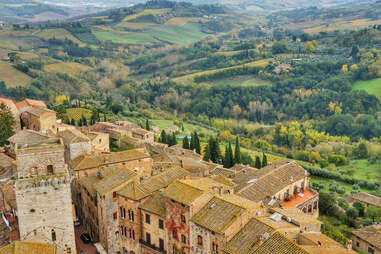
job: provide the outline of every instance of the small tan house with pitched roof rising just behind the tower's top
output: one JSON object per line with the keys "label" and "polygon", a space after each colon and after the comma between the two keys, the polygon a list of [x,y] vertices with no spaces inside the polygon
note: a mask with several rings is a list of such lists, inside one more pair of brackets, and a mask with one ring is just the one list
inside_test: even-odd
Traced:
{"label": "small tan house with pitched roof rising just behind the tower's top", "polygon": [[46,108],[26,107],[21,113],[21,126],[42,133],[56,133],[56,114],[55,111]]}

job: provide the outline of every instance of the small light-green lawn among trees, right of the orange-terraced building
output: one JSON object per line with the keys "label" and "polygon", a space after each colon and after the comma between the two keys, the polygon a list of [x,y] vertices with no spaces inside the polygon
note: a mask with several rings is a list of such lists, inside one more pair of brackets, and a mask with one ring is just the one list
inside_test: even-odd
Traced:
{"label": "small light-green lawn among trees, right of the orange-terraced building", "polygon": [[338,170],[354,171],[353,176],[356,179],[364,181],[381,181],[381,162],[370,164],[368,160],[353,160],[349,165],[340,167]]}

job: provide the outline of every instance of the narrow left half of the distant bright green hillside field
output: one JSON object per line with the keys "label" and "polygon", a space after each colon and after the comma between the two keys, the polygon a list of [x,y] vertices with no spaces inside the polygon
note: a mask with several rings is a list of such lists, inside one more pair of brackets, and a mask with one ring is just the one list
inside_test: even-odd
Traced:
{"label": "narrow left half of the distant bright green hillside field", "polygon": [[151,35],[144,33],[94,30],[93,34],[100,41],[110,40],[114,43],[120,44],[150,45],[156,42],[156,40]]}

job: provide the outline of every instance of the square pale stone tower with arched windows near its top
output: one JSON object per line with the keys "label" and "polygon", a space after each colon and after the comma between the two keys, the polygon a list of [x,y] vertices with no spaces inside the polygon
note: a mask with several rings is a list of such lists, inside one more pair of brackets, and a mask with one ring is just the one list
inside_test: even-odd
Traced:
{"label": "square pale stone tower with arched windows near its top", "polygon": [[57,254],[76,253],[71,177],[62,139],[21,131],[10,142],[17,165],[21,240],[52,244]]}

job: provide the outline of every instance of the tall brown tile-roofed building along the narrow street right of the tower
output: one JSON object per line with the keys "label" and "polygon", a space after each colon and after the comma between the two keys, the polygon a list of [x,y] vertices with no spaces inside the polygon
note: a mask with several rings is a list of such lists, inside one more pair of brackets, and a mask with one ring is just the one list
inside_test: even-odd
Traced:
{"label": "tall brown tile-roofed building along the narrow street right of the tower", "polygon": [[79,180],[78,216],[94,241],[99,241],[109,253],[118,247],[117,191],[139,175],[125,165],[110,166]]}

